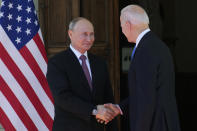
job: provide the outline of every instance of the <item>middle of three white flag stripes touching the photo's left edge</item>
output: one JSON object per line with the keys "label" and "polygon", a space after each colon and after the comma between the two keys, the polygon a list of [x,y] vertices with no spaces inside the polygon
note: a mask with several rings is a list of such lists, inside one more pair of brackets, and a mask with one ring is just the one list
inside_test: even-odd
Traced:
{"label": "middle of three white flag stripes touching the photo's left edge", "polygon": [[[40,118],[38,112],[34,108],[31,101],[26,96],[23,89],[20,87],[18,82],[15,80],[15,78],[12,76],[12,74],[9,72],[3,61],[0,59],[0,74],[4,81],[7,83],[7,85],[10,87],[18,101],[21,103],[29,117],[32,119],[34,124],[38,129],[47,129],[46,125],[43,123],[42,119]],[[8,111],[9,112],[9,111]]]}

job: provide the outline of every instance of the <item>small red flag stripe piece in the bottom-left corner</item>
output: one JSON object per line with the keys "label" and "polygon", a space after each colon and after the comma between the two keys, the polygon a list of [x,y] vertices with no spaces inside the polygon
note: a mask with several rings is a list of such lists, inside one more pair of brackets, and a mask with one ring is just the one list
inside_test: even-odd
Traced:
{"label": "small red flag stripe piece in the bottom-left corner", "polygon": [[1,124],[2,124],[3,128],[8,131],[16,131],[16,129],[14,128],[14,126],[12,125],[10,120],[8,119],[5,112],[1,109],[1,107],[0,107],[0,114],[1,114],[0,120],[1,120]]}

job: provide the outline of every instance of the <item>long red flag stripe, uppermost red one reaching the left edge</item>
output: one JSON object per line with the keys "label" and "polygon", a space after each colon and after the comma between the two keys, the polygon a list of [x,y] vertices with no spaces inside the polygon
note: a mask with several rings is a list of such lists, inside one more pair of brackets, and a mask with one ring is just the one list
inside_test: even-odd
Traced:
{"label": "long red flag stripe, uppermost red one reaching the left edge", "polygon": [[26,80],[25,76],[22,74],[20,69],[17,67],[17,65],[14,63],[12,58],[9,56],[5,48],[2,46],[2,43],[0,42],[0,57],[9,69],[9,71],[12,73],[14,78],[18,81],[19,85],[23,88],[24,92],[27,94],[28,98],[34,105],[36,111],[40,115],[42,121],[46,124],[46,126],[49,128],[52,125],[52,118],[49,116],[46,109],[43,107],[42,103],[40,102],[38,96],[32,89],[29,82]]}

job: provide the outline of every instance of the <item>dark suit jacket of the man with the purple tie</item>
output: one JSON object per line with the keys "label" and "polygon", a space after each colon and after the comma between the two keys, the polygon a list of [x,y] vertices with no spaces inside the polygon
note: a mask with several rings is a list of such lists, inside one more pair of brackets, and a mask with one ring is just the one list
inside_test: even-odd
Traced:
{"label": "dark suit jacket of the man with the purple tie", "polygon": [[[88,54],[88,58],[92,91],[70,48],[49,60],[47,80],[55,100],[54,131],[104,131],[104,125],[91,114],[96,105],[114,102],[107,65],[92,54]],[[106,129],[116,131],[116,121],[110,122]]]}

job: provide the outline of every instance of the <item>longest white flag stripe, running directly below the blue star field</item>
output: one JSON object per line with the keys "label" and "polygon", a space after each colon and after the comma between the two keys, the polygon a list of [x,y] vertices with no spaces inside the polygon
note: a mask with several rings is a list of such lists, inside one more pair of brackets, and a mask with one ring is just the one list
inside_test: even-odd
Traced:
{"label": "longest white flag stripe, running directly below the blue star field", "polygon": [[15,46],[12,44],[10,41],[9,37],[6,35],[5,31],[2,29],[2,26],[0,25],[0,34],[2,36],[2,41],[1,43],[3,44],[4,48],[12,57],[13,61],[16,63],[23,75],[26,77],[28,82],[30,83],[31,87],[35,91],[36,95],[40,99],[41,103],[51,116],[51,118],[54,118],[54,106],[52,101],[49,99],[49,97],[46,95],[45,91],[43,90],[42,86],[40,85],[38,79],[26,63],[26,61],[23,59],[21,54],[18,52],[18,50],[15,48]]}

